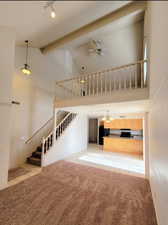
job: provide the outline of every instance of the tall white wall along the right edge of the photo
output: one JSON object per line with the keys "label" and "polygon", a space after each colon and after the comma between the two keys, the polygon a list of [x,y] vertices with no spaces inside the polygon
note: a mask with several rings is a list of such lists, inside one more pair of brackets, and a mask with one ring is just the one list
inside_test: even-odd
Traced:
{"label": "tall white wall along the right edge of the photo", "polygon": [[168,224],[168,2],[150,2],[150,183],[159,225]]}

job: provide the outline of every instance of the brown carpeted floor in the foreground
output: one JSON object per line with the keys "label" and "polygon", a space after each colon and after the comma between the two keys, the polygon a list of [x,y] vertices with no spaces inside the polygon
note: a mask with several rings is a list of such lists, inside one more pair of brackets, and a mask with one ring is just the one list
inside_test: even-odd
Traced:
{"label": "brown carpeted floor in the foreground", "polygon": [[3,225],[156,225],[149,183],[59,161],[0,192]]}

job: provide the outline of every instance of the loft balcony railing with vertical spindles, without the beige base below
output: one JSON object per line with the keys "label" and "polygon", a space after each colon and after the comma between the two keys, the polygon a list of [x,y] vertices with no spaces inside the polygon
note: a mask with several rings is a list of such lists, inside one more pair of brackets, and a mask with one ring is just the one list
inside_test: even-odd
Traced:
{"label": "loft balcony railing with vertical spindles, without the beige base below", "polygon": [[148,86],[147,60],[56,82],[56,98],[109,95]]}

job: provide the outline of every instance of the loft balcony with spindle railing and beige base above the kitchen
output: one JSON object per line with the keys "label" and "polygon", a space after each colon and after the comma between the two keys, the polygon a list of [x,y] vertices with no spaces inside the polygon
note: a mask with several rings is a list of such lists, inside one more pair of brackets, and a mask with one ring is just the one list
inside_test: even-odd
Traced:
{"label": "loft balcony with spindle railing and beige base above the kitchen", "polygon": [[55,107],[148,99],[147,60],[56,82]]}

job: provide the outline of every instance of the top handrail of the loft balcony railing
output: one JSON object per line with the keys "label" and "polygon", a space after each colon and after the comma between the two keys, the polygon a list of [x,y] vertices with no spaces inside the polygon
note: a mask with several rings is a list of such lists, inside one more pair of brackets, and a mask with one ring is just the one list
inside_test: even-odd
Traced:
{"label": "top handrail of the loft balcony railing", "polygon": [[97,75],[97,74],[103,74],[103,73],[108,73],[108,72],[111,72],[111,71],[124,69],[124,68],[130,67],[130,66],[134,66],[134,65],[137,65],[137,64],[145,63],[147,61],[148,61],[147,59],[143,59],[143,60],[139,60],[137,62],[129,63],[129,64],[126,64],[126,65],[123,65],[123,66],[113,67],[113,68],[110,68],[110,69],[100,70],[100,71],[96,71],[96,72],[92,72],[92,73],[76,75],[76,76],[73,76],[72,78],[69,78],[69,79],[56,81],[56,85],[60,85],[61,83],[64,83],[64,82],[67,82],[67,81],[76,80],[76,79],[80,79],[80,78],[83,78],[83,77],[86,78],[86,77],[90,77],[90,76]]}

